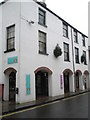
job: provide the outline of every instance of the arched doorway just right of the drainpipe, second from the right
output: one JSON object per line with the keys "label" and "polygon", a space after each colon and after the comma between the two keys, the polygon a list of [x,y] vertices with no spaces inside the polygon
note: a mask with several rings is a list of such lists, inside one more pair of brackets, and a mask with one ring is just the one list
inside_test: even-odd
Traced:
{"label": "arched doorway just right of the drainpipe, second from the right", "polygon": [[76,75],[75,75],[75,86],[76,86],[76,91],[79,91],[80,89],[82,89],[82,72],[80,70],[76,71]]}

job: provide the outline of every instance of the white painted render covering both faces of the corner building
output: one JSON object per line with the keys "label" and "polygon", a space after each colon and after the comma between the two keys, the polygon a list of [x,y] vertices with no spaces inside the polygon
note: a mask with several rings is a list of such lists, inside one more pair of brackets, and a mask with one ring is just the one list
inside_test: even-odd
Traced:
{"label": "white painted render covering both faces of the corner building", "polygon": [[[16,95],[16,102],[28,102],[36,100],[35,93],[35,73],[34,71],[39,67],[47,67],[52,71],[52,75],[49,74],[48,85],[49,85],[49,96],[57,96],[64,94],[64,81],[63,89],[60,87],[60,75],[63,75],[65,69],[70,69],[73,73],[77,70],[82,72],[80,77],[80,89],[84,90],[83,87],[83,74],[87,70],[88,64],[84,65],[81,63],[81,55],[83,50],[87,52],[87,63],[88,63],[88,39],[85,38],[86,47],[82,45],[82,36],[78,32],[79,44],[74,42],[73,28],[68,27],[69,38],[63,37],[63,24],[62,20],[58,19],[55,15],[41,7],[33,0],[32,2],[11,2],[7,1],[5,4],[0,6],[0,78],[4,83],[4,99],[9,100],[9,81],[8,74],[4,71],[7,68],[14,68],[16,73],[16,87],[19,88],[19,94]],[[43,27],[38,24],[38,8],[42,8],[46,11],[46,25]],[[1,10],[2,9],[2,10]],[[2,16],[1,16],[2,11]],[[34,21],[34,24],[29,24],[28,21]],[[2,23],[1,23],[2,22]],[[15,51],[10,53],[4,53],[6,51],[6,28],[10,25],[15,24]],[[2,29],[1,29],[2,28]],[[38,30],[47,33],[47,53],[48,55],[41,55],[38,53]],[[72,31],[72,35],[71,35]],[[3,33],[3,34],[1,34]],[[73,36],[73,38],[72,38]],[[73,57],[72,57],[72,41],[73,50],[75,54],[75,47],[79,48],[79,61],[80,64],[75,63],[75,71],[73,70]],[[69,44],[70,51],[70,62],[64,61],[64,47],[63,42]],[[55,58],[53,50],[55,46],[59,44],[62,48],[62,56]],[[18,56],[18,63],[8,65],[7,60],[9,57]],[[31,94],[26,95],[26,74],[30,74],[30,85]],[[3,75],[3,76],[2,76]],[[70,73],[70,92],[75,92],[75,81],[74,74]],[[0,79],[1,82],[1,79]],[[87,84],[88,86],[88,84]]]}

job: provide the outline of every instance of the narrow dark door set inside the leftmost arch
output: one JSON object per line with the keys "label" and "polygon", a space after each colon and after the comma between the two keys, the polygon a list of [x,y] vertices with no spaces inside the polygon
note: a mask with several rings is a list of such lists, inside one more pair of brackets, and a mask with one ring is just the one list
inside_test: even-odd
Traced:
{"label": "narrow dark door set inside the leftmost arch", "polygon": [[11,72],[9,74],[9,101],[15,102],[16,99],[16,73]]}

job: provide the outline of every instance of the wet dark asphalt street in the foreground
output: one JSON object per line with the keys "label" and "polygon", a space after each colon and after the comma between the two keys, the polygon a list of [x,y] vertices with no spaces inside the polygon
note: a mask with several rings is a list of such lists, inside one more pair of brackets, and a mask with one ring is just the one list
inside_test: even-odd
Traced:
{"label": "wet dark asphalt street in the foreground", "polygon": [[3,116],[3,118],[88,118],[88,93]]}

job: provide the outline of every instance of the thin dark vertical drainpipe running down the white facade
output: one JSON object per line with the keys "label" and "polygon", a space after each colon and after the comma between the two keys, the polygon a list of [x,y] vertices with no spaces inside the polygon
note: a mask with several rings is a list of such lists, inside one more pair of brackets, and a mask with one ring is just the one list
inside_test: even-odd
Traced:
{"label": "thin dark vertical drainpipe running down the white facade", "polygon": [[76,92],[76,77],[75,77],[75,62],[74,62],[74,44],[73,44],[73,34],[72,34],[72,28],[71,28],[71,44],[72,44],[72,62],[73,62],[73,74],[74,74],[74,89]]}

